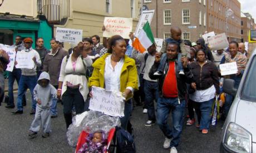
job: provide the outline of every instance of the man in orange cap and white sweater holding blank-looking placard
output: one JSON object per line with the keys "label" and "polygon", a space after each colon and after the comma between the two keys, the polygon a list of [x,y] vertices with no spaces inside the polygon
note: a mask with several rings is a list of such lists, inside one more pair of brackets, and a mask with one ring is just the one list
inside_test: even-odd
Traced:
{"label": "man in orange cap and white sweater holding blank-looking placard", "polygon": [[[18,98],[17,98],[17,110],[13,111],[13,114],[22,114],[22,97],[26,94],[27,88],[29,88],[32,97],[32,109],[30,114],[36,113],[36,101],[33,99],[33,90],[37,84],[36,68],[41,66],[40,55],[36,50],[32,49],[33,40],[31,38],[25,38],[23,40],[25,49],[21,50],[21,54],[27,54],[27,57],[33,57],[33,63],[35,64],[32,69],[21,68],[21,79],[18,84]],[[15,64],[18,64],[15,61]]]}

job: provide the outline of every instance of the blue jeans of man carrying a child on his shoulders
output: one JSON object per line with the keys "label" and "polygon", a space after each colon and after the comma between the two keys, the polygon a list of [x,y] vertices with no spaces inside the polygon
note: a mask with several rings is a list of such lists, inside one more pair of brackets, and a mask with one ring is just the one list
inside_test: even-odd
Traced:
{"label": "blue jeans of man carrying a child on his shoulders", "polygon": [[[170,147],[178,146],[183,127],[183,114],[186,102],[181,100],[179,104],[178,98],[159,98],[157,101],[157,124],[168,139],[173,137]],[[171,111],[172,110],[172,111]],[[170,128],[167,123],[169,113],[173,118],[173,127]]]}

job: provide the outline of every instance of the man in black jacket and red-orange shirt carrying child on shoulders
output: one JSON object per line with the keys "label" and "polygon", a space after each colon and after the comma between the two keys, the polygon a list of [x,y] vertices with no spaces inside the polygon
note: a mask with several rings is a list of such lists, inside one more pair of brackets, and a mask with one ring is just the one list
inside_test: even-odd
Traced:
{"label": "man in black jacket and red-orange shirt carrying child on shoulders", "polygon": [[[164,72],[154,75],[160,64],[160,53],[155,55],[155,63],[149,73],[153,80],[158,79],[159,96],[157,100],[157,124],[165,135],[164,148],[171,148],[170,152],[177,152],[176,147],[180,141],[183,126],[183,114],[185,110],[186,83],[191,83],[193,74],[188,65],[188,59],[182,58],[185,75],[178,72],[178,44],[169,43],[166,48]],[[167,124],[168,115],[172,110],[173,127]]]}

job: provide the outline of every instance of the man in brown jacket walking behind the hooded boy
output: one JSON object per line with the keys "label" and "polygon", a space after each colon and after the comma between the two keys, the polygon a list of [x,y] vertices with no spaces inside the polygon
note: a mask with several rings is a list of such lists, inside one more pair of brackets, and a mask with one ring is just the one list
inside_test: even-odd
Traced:
{"label": "man in brown jacket walking behind the hooded boy", "polygon": [[[51,52],[46,54],[43,62],[43,72],[48,72],[51,78],[51,84],[58,89],[58,77],[60,77],[62,59],[68,55],[68,52],[60,48],[59,42],[55,38],[50,41]],[[51,117],[57,117],[57,99],[53,99],[51,106]]]}

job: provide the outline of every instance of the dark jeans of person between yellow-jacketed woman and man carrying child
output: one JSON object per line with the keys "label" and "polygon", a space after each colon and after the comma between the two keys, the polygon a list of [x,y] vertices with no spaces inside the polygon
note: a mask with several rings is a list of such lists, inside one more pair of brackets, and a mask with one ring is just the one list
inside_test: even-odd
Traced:
{"label": "dark jeans of person between yellow-jacketed woman and man carrying child", "polygon": [[145,108],[147,108],[148,120],[155,121],[155,107],[154,99],[157,101],[159,98],[158,83],[153,81],[144,80],[144,93],[145,93]]}

